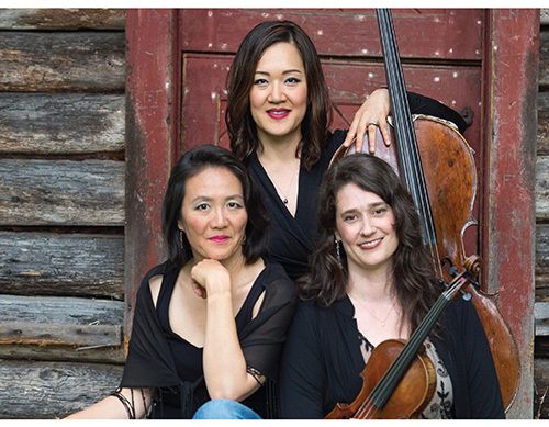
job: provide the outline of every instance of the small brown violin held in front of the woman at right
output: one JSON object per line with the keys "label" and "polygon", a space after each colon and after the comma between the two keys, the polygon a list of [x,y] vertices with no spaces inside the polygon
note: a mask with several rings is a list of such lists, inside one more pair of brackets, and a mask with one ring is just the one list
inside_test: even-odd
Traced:
{"label": "small brown violin held in front of the woman at right", "polygon": [[470,280],[475,280],[481,259],[471,256],[466,270],[438,297],[407,341],[389,339],[371,352],[360,373],[363,383],[350,404],[338,403],[325,419],[417,418],[436,390],[436,372],[423,342],[450,301]]}

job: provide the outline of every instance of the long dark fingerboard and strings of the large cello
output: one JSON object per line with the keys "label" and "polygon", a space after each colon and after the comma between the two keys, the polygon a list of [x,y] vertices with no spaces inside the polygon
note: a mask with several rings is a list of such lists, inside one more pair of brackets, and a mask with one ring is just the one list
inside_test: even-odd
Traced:
{"label": "long dark fingerboard and strings of the large cello", "polygon": [[410,112],[406,85],[404,83],[391,11],[389,9],[377,9],[376,12],[385,63],[385,77],[393,116],[400,173],[418,210],[424,243],[426,245],[436,245],[435,225]]}

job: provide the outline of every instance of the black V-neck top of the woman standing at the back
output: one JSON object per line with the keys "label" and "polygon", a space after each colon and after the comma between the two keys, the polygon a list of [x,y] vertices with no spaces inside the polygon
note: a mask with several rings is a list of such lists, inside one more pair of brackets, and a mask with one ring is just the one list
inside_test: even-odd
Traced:
{"label": "black V-neck top of the woman standing at the back", "polygon": [[[433,115],[447,120],[455,123],[460,132],[466,128],[466,122],[456,111],[430,98],[408,92],[408,102],[412,114]],[[321,159],[311,170],[300,168],[295,217],[280,200],[277,189],[259,162],[256,153],[246,161],[271,215],[269,254],[273,261],[282,265],[292,280],[309,273],[309,257],[315,245],[318,188],[332,157],[345,141],[346,135],[347,131],[340,130],[330,133]]]}

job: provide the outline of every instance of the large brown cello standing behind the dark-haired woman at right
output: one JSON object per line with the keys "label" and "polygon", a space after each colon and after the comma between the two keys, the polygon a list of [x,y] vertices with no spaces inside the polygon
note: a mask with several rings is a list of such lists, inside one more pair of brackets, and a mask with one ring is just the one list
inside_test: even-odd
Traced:
{"label": "large brown cello standing behind the dark-haired woman at right", "polygon": [[[388,161],[408,188],[434,267],[441,280],[450,282],[451,271],[463,270],[464,232],[477,224],[472,216],[477,192],[474,158],[453,124],[432,116],[411,116],[391,12],[377,9],[377,15],[394,131],[388,147],[378,128],[376,156]],[[354,151],[354,145],[341,146],[332,161]],[[452,268],[445,269],[447,265]],[[494,359],[504,408],[508,412],[517,395],[520,374],[515,339],[496,305],[497,294],[484,293],[477,280],[468,281],[462,291],[472,295]]]}

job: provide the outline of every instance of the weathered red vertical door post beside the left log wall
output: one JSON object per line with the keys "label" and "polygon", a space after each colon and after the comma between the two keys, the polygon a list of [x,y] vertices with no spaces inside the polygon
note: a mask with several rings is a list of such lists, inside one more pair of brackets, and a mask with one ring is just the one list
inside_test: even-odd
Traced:
{"label": "weathered red vertical door post beside the left log wall", "polygon": [[171,22],[168,9],[127,10],[126,334],[141,280],[161,260],[160,207],[173,157]]}

